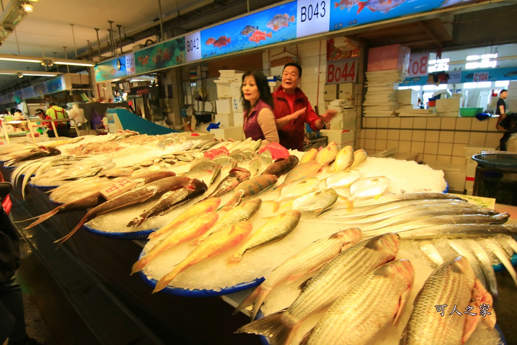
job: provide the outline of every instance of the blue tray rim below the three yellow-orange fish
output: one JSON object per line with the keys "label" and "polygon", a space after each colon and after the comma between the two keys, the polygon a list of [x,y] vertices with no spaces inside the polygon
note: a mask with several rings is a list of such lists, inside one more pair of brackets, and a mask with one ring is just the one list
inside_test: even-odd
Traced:
{"label": "blue tray rim below the three yellow-orange fish", "polygon": [[[144,255],[144,251],[142,250],[142,252],[140,253],[138,259],[140,260],[140,258],[142,258],[143,255]],[[139,274],[140,278],[142,278],[142,280],[148,286],[150,286],[151,288],[155,288],[156,287],[156,283],[158,282],[158,280],[156,280],[154,278],[147,277],[143,271],[140,271],[138,274]],[[264,280],[265,279],[263,277],[262,278],[256,278],[256,279],[254,279],[252,281],[247,281],[247,282],[244,282],[244,283],[239,283],[239,284],[237,284],[235,286],[226,287],[224,289],[221,289],[220,291],[206,290],[206,289],[189,290],[189,289],[175,288],[175,287],[167,286],[163,290],[161,290],[160,292],[168,293],[170,295],[185,296],[185,297],[217,297],[217,296],[222,296],[222,295],[227,295],[227,294],[239,292],[239,291],[242,291],[242,290],[247,290],[247,289],[255,288],[255,287],[259,286],[260,284],[262,284],[262,282]]]}

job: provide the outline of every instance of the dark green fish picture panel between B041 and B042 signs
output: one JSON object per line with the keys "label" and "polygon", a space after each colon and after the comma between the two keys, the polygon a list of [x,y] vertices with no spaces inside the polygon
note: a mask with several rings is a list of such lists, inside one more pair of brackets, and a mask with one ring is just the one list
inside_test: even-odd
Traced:
{"label": "dark green fish picture panel between B041 and B042 signs", "polygon": [[137,74],[169,68],[186,62],[185,37],[168,40],[134,53],[134,69]]}

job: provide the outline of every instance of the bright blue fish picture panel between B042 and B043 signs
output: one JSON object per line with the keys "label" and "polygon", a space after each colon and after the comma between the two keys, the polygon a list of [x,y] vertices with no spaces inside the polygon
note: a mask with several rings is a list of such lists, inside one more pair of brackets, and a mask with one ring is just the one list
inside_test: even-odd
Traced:
{"label": "bright blue fish picture panel between B042 and B043 signs", "polygon": [[296,1],[249,14],[201,31],[201,56],[208,58],[296,39]]}

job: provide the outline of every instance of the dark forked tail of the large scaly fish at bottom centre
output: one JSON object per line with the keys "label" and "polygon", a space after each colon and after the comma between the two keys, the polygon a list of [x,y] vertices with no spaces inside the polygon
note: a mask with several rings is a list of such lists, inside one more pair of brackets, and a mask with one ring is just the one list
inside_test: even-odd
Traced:
{"label": "dark forked tail of the large scaly fish at bottom centre", "polygon": [[262,334],[269,337],[273,344],[288,344],[293,339],[299,324],[288,325],[282,320],[284,310],[270,314],[263,319],[253,321],[237,329],[235,333]]}

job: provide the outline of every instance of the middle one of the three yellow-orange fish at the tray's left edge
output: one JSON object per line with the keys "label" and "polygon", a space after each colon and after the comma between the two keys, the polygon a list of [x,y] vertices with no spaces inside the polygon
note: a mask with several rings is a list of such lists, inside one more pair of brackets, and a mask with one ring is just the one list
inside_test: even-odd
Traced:
{"label": "middle one of the three yellow-orange fish at the tray's left edge", "polygon": [[179,224],[177,228],[169,232],[160,241],[158,241],[153,248],[150,248],[145,255],[136,261],[132,267],[131,274],[139,272],[143,269],[151,260],[156,258],[160,253],[174,247],[177,244],[184,243],[193,239],[197,236],[202,235],[212,225],[215,224],[219,218],[215,212],[207,212],[199,215],[195,215],[183,223]]}

